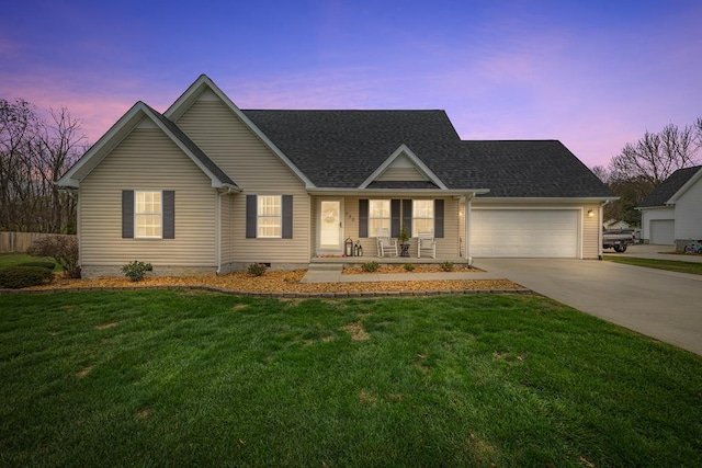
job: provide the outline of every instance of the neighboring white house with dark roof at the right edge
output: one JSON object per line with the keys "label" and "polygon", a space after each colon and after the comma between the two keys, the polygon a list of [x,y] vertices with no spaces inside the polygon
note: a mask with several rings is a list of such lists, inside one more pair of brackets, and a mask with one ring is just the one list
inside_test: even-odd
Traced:
{"label": "neighboring white house with dark roof at the right edge", "polygon": [[682,251],[690,239],[702,239],[702,165],[679,169],[638,207],[646,243],[676,244]]}

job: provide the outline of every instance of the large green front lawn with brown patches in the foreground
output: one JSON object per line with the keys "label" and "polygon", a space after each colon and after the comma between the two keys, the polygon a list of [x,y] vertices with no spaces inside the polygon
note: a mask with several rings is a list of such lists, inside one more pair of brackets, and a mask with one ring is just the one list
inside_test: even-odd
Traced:
{"label": "large green front lawn with brown patches in the foreground", "polygon": [[0,422],[3,467],[702,466],[702,359],[539,296],[7,295]]}

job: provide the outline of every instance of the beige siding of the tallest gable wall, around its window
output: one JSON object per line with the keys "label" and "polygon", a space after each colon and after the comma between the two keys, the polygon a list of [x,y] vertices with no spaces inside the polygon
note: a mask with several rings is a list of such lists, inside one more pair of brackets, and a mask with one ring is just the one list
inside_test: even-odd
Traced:
{"label": "beige siding of the tallest gable wall, around its window", "polygon": [[[213,93],[204,93],[177,124],[242,189],[233,196],[231,262],[308,264],[310,201],[303,182]],[[247,239],[246,195],[293,195],[293,238]]]}

